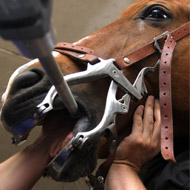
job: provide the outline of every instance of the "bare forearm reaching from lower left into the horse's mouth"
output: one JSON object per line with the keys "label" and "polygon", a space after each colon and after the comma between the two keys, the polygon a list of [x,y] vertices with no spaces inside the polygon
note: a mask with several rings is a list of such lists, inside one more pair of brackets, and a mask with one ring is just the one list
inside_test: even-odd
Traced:
{"label": "bare forearm reaching from lower left into the horse's mouth", "polygon": [[33,144],[0,164],[0,190],[29,190],[34,186],[49,161],[72,138],[69,117],[62,117],[63,113],[52,113]]}

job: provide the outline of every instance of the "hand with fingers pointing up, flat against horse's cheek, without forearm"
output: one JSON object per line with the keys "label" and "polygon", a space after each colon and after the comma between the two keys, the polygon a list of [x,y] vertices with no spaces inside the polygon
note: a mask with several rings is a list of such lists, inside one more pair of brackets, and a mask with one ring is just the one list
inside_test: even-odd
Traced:
{"label": "hand with fingers pointing up, flat against horse's cheek, without forearm", "polygon": [[142,165],[160,151],[160,105],[149,96],[133,117],[132,133],[124,138],[116,151],[115,164],[126,164],[139,171]]}

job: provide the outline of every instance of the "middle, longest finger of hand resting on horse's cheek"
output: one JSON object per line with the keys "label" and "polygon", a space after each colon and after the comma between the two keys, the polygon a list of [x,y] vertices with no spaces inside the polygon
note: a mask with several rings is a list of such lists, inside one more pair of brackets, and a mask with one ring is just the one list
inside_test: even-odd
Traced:
{"label": "middle, longest finger of hand resting on horse's cheek", "polygon": [[153,132],[154,117],[154,97],[149,96],[145,103],[144,118],[143,118],[143,135],[145,137],[150,137]]}

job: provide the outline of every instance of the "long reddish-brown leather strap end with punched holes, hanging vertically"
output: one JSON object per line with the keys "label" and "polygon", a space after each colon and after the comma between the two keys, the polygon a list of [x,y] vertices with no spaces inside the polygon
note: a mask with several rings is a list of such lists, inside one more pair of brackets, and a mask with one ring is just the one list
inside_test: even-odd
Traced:
{"label": "long reddish-brown leather strap end with punched holes, hanging vertically", "polygon": [[161,153],[165,160],[175,161],[173,153],[173,117],[171,90],[171,63],[176,42],[168,36],[160,59],[160,109],[161,109]]}

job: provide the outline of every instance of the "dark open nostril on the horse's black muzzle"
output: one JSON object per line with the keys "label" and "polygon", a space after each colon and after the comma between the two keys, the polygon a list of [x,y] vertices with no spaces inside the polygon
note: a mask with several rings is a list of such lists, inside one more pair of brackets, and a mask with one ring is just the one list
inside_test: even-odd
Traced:
{"label": "dark open nostril on the horse's black muzzle", "polygon": [[11,94],[14,94],[14,92],[33,87],[36,85],[39,81],[42,80],[44,74],[39,69],[32,69],[29,71],[26,71],[22,74],[20,74],[14,81],[12,88],[11,88]]}

